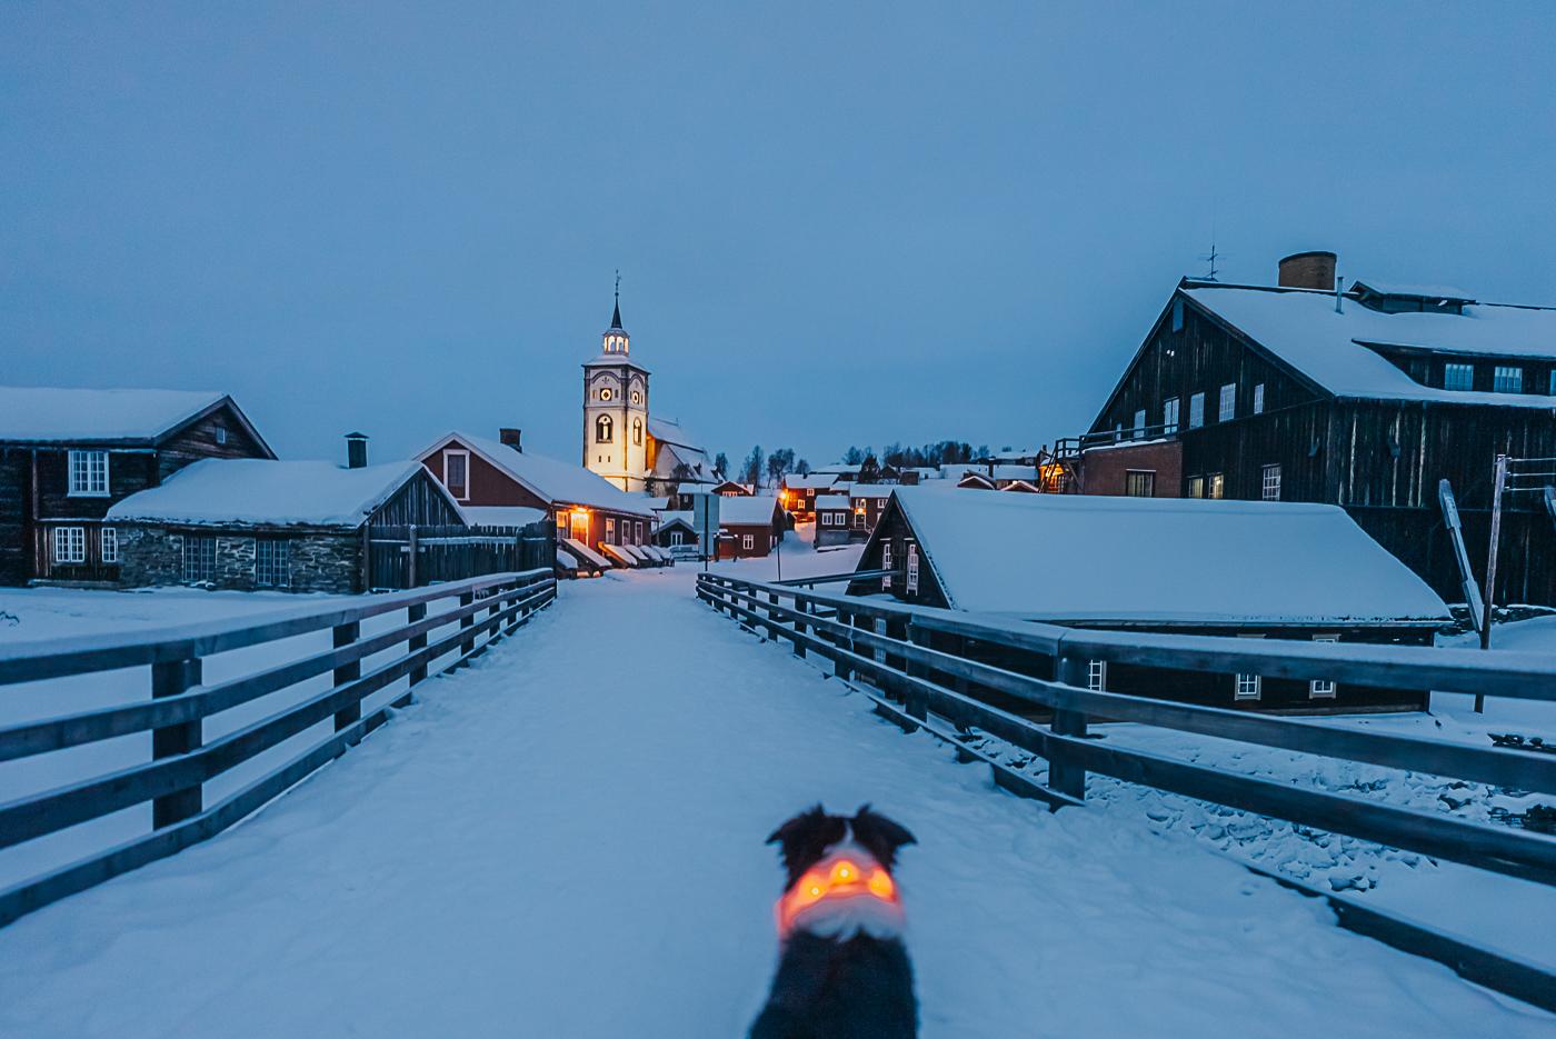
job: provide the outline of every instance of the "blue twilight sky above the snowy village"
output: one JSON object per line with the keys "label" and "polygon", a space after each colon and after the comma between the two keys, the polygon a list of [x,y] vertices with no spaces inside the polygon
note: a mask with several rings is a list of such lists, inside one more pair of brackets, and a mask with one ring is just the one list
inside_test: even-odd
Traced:
{"label": "blue twilight sky above the snowy village", "polygon": [[0,6],[5,383],[574,459],[612,274],[710,451],[1049,442],[1223,278],[1556,303],[1556,3]]}

